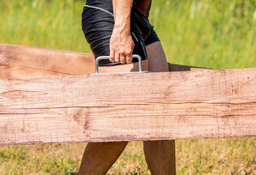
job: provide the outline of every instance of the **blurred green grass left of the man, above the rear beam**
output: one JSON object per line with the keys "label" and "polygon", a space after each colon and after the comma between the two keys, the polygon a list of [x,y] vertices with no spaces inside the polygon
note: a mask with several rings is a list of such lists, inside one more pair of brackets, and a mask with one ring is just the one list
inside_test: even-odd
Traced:
{"label": "blurred green grass left of the man, above the rear beam", "polygon": [[90,52],[82,34],[84,1],[1,0],[0,43]]}

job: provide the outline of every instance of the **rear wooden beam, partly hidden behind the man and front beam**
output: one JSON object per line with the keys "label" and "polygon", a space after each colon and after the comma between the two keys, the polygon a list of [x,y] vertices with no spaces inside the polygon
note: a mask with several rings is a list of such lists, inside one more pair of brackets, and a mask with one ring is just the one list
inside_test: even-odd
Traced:
{"label": "rear wooden beam, partly hidden behind the man and front beam", "polygon": [[[147,70],[147,61],[142,63]],[[136,71],[137,64],[100,67],[100,72]],[[193,66],[168,64],[169,71],[198,71]],[[86,75],[95,72],[92,54],[0,44],[0,79]]]}

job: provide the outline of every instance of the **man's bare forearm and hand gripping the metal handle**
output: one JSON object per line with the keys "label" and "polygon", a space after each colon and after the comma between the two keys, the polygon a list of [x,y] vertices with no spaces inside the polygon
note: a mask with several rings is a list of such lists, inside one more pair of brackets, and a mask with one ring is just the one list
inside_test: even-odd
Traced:
{"label": "man's bare forearm and hand gripping the metal handle", "polygon": [[131,38],[131,7],[133,0],[112,0],[115,26],[110,38],[110,61],[131,63],[133,39]]}

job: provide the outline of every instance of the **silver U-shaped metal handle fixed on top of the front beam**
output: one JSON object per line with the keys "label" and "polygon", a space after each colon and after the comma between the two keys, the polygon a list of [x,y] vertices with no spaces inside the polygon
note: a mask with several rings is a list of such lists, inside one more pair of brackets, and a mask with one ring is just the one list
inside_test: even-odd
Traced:
{"label": "silver U-shaped metal handle fixed on top of the front beam", "polygon": [[[133,58],[137,58],[138,61],[139,61],[139,71],[98,73],[98,61],[109,59],[109,56],[99,56],[98,58],[96,58],[95,74],[131,74],[131,73],[147,73],[147,72],[150,72],[150,71],[142,71],[142,59],[141,59],[140,55],[133,55]],[[89,75],[93,75],[93,74],[89,74]]]}

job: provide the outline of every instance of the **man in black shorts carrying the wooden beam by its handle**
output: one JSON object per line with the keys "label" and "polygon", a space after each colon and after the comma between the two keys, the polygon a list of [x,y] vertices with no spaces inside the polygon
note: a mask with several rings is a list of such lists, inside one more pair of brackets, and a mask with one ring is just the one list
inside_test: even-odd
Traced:
{"label": "man in black shorts carrying the wooden beam by its handle", "polygon": [[[85,38],[96,58],[110,55],[100,66],[134,63],[132,54],[137,54],[148,60],[150,71],[168,71],[160,40],[148,20],[150,5],[151,0],[86,2],[82,13]],[[127,143],[88,143],[79,174],[106,174]],[[144,155],[151,174],[175,174],[174,141],[144,141]]]}

